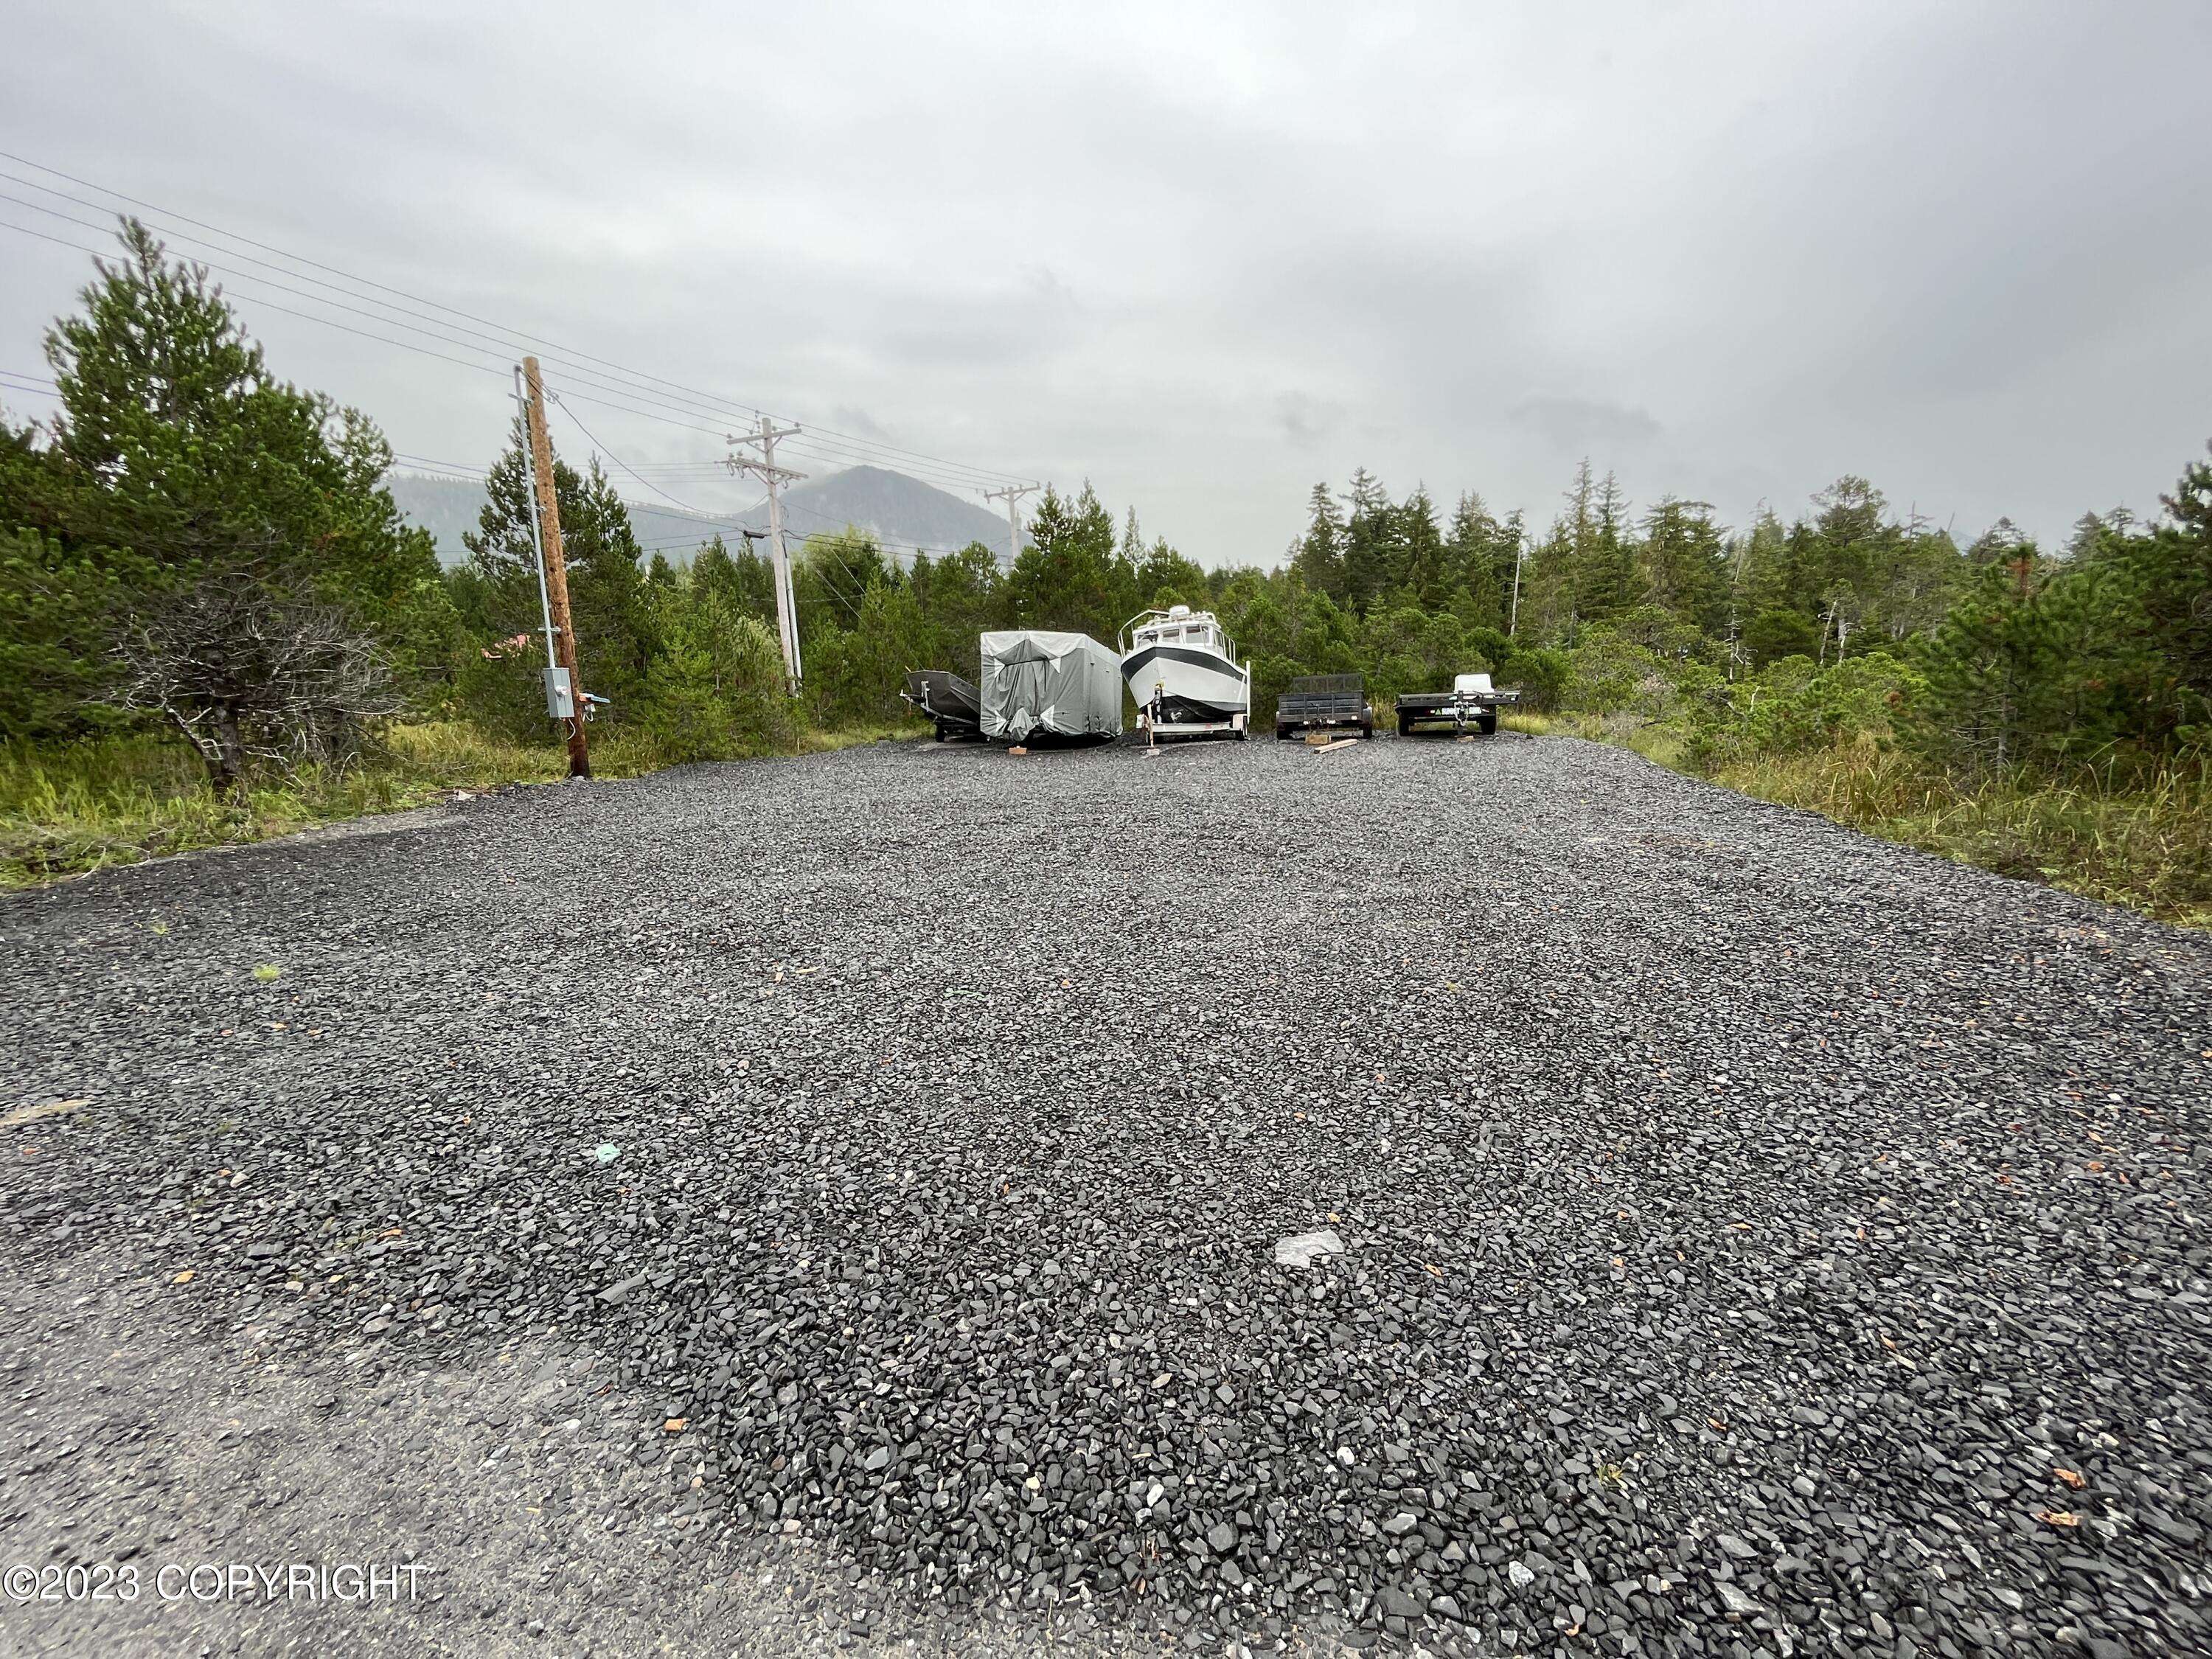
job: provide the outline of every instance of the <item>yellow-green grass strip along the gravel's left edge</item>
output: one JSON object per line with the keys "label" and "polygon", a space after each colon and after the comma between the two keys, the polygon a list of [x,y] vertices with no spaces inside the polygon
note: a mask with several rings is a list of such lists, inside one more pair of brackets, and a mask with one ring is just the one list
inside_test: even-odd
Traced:
{"label": "yellow-green grass strip along the gravel's left edge", "polygon": [[[918,730],[810,730],[801,732],[796,752]],[[591,770],[597,776],[626,779],[664,765],[668,757],[644,732],[622,726],[593,732]],[[237,796],[219,796],[199,757],[155,732],[38,748],[7,743],[0,745],[0,889],[405,812],[456,792],[555,783],[566,774],[568,754],[560,743],[511,743],[465,721],[389,726],[352,765],[265,776]]]}

